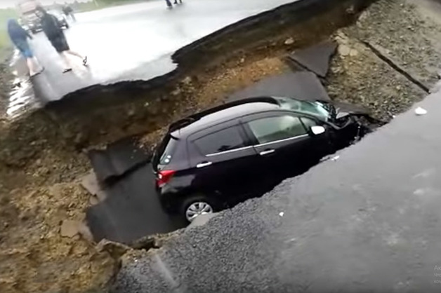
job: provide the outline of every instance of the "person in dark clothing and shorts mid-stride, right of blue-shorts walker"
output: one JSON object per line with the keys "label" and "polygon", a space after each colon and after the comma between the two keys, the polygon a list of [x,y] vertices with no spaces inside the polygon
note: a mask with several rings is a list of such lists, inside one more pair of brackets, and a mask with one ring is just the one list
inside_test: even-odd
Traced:
{"label": "person in dark clothing and shorts mid-stride, right of blue-shorts walker", "polygon": [[35,14],[37,14],[37,16],[41,20],[41,28],[43,29],[44,34],[46,34],[53,48],[57,50],[65,63],[65,69],[62,71],[62,73],[72,71],[72,66],[70,65],[67,55],[78,57],[83,62],[83,65],[86,66],[87,57],[70,50],[70,46],[67,43],[65,33],[62,31],[58,19],[55,18],[54,15],[48,13],[42,7],[38,7]]}

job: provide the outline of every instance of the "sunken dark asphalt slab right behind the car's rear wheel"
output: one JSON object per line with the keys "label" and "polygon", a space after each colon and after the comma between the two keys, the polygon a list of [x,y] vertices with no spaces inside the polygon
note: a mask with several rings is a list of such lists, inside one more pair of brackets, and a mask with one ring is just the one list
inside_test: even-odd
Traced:
{"label": "sunken dark asphalt slab right behind the car's rear wheel", "polygon": [[106,199],[86,212],[88,226],[97,242],[105,238],[129,244],[145,236],[168,233],[187,225],[162,210],[154,191],[150,163],[132,170],[104,192]]}

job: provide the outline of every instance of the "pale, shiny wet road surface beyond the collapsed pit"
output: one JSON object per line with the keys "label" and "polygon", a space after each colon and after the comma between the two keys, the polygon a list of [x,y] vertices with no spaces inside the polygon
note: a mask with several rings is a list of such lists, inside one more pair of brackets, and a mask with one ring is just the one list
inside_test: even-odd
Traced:
{"label": "pale, shiny wet road surface beyond the collapsed pit", "polygon": [[35,95],[46,104],[88,86],[166,74],[176,68],[170,56],[179,48],[291,2],[192,0],[167,10],[165,1],[157,0],[79,13],[65,34],[72,50],[88,56],[90,66],[72,57],[74,70],[62,74],[60,57],[43,33],[36,34],[31,46],[46,70],[32,79]]}

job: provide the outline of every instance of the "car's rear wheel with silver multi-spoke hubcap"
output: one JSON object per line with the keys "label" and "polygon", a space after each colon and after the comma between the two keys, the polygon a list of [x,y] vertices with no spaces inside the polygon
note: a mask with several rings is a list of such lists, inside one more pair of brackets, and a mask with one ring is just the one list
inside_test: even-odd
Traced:
{"label": "car's rear wheel with silver multi-spoke hubcap", "polygon": [[203,195],[186,198],[180,209],[180,215],[186,222],[191,223],[198,215],[216,212],[216,204],[213,200]]}

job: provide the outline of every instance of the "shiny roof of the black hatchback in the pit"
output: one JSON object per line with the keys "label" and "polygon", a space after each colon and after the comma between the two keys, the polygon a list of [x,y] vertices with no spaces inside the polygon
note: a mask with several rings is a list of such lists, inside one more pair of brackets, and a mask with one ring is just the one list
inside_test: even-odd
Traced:
{"label": "shiny roof of the black hatchback in the pit", "polygon": [[228,107],[226,109],[221,109],[220,111],[215,111],[211,114],[202,116],[196,121],[174,130],[171,132],[171,135],[173,137],[184,137],[199,130],[208,128],[209,126],[230,121],[234,118],[277,109],[280,109],[280,106],[270,102],[249,102],[246,104],[239,104],[237,106]]}

